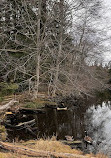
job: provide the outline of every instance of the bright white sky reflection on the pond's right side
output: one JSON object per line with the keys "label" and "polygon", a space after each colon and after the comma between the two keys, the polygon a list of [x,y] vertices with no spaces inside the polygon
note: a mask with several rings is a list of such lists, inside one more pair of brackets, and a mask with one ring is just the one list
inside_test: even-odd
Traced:
{"label": "bright white sky reflection on the pond's right side", "polygon": [[86,112],[86,126],[96,150],[111,155],[111,102],[91,106]]}

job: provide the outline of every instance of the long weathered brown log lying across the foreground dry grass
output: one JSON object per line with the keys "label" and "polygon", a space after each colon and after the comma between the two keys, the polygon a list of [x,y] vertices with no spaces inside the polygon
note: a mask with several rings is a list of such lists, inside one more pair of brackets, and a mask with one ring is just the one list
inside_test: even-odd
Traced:
{"label": "long weathered brown log lying across the foreground dry grass", "polygon": [[[0,148],[11,151],[17,154],[32,156],[32,157],[61,157],[61,158],[89,158],[83,155],[70,154],[70,153],[56,153],[50,151],[34,150],[26,147],[12,145],[10,143],[0,142]],[[91,157],[94,158],[94,157]]]}

